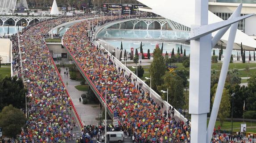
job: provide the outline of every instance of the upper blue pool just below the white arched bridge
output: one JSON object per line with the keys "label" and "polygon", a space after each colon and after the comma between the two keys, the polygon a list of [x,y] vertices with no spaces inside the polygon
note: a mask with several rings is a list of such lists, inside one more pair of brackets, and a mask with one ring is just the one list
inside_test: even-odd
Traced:
{"label": "upper blue pool just below the white arched bridge", "polygon": [[97,37],[102,38],[136,38],[136,39],[187,39],[190,32],[170,31],[170,30],[119,30],[107,29],[100,32]]}

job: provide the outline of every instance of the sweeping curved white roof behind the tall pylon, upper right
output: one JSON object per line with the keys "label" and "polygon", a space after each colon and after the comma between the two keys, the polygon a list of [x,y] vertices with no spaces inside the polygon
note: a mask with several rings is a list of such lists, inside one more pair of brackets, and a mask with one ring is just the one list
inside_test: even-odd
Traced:
{"label": "sweeping curved white roof behind the tall pylon, upper right", "polygon": [[[179,24],[191,27],[191,25],[194,25],[195,23],[195,0],[158,0],[157,3],[155,0],[137,1],[152,8],[152,10],[150,11],[152,11],[153,13],[163,16],[169,20],[178,22]],[[223,20],[219,16],[216,16],[214,13],[209,11],[208,24],[212,24],[219,21]],[[213,32],[212,36],[215,36],[217,32]],[[228,35],[229,30],[223,35],[221,40],[227,41]],[[235,36],[235,43],[240,44],[241,42],[245,46],[256,48],[256,40],[246,35],[244,32],[237,30]]]}

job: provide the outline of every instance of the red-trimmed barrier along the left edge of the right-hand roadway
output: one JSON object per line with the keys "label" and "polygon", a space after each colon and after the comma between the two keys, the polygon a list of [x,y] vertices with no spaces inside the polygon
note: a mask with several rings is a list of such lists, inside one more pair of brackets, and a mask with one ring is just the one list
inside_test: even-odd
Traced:
{"label": "red-trimmed barrier along the left edge of the right-hand roadway", "polygon": [[[63,43],[63,41],[62,41]],[[87,83],[89,84],[90,87],[92,87],[92,91],[95,93],[95,95],[97,96],[97,98],[99,99],[99,101],[101,103],[103,103],[103,105],[105,105],[105,99],[103,98],[103,96],[99,93],[98,89],[95,87],[94,83],[92,83],[91,79],[88,77],[88,75],[86,74],[86,72],[83,70],[83,68],[80,66],[80,64],[77,62],[77,60],[74,58],[74,56],[72,55],[72,53],[70,52],[70,50],[68,48],[66,48],[66,45],[63,43],[62,44],[63,47],[67,50],[68,54],[70,55],[71,59],[74,61],[74,64],[76,65],[76,67],[78,68],[78,70],[80,71],[80,73],[83,75],[84,79],[87,81]],[[107,113],[108,115],[110,115],[111,118],[113,118],[113,111],[112,109],[107,106]]]}

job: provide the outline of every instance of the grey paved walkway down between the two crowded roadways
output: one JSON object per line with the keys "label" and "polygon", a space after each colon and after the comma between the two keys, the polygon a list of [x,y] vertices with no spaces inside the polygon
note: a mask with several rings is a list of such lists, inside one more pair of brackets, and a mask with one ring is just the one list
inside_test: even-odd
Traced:
{"label": "grey paved walkway down between the two crowded roadways", "polygon": [[[70,71],[68,69],[68,77],[64,76],[64,72],[66,71],[66,68],[61,68],[61,76],[63,79],[63,82],[65,83],[65,86],[70,94],[70,98],[72,99],[74,106],[78,112],[78,115],[80,116],[80,119],[82,120],[84,125],[88,124],[98,124],[99,121],[97,121],[95,118],[99,117],[99,112],[103,112],[99,108],[99,104],[83,104],[79,103],[80,95],[83,93],[86,93],[85,91],[78,91],[75,86],[80,85],[79,81],[71,80],[70,79]],[[66,82],[68,83],[68,86],[66,85]]]}

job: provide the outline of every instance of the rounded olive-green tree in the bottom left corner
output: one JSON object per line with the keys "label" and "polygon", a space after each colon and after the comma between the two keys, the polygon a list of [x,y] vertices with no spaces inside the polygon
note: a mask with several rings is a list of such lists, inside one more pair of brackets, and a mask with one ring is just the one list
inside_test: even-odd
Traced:
{"label": "rounded olive-green tree in the bottom left corner", "polygon": [[16,138],[25,123],[26,117],[23,112],[12,105],[5,106],[0,112],[0,127],[3,129],[4,136]]}

